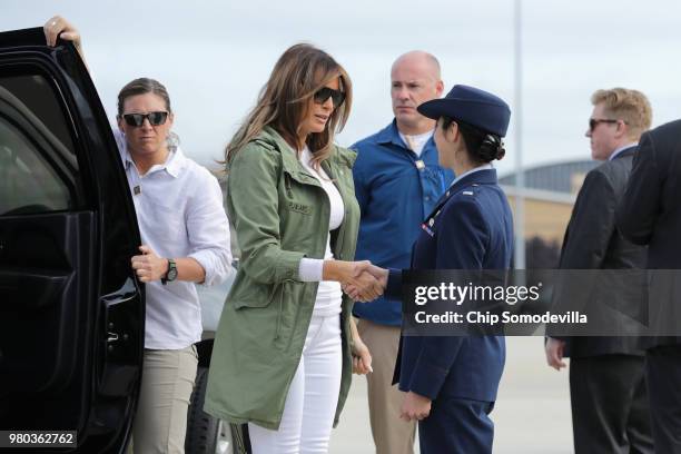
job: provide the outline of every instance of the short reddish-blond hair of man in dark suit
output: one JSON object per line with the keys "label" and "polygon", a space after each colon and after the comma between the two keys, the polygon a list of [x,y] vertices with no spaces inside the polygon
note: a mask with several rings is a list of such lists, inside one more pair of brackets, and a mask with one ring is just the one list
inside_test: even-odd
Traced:
{"label": "short reddish-blond hair of man in dark suit", "polygon": [[605,114],[613,119],[623,120],[629,126],[630,137],[639,139],[650,129],[652,122],[652,108],[645,95],[639,90],[613,88],[596,90],[591,96],[591,103],[602,103]]}

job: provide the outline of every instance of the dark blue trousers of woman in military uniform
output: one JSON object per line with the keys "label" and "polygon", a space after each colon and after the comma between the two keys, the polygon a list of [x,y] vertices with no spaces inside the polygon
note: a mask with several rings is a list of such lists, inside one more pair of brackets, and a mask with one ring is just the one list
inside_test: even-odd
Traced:
{"label": "dark blue trousers of woman in military uniform", "polygon": [[490,454],[493,402],[437,397],[431,415],[418,422],[421,454]]}

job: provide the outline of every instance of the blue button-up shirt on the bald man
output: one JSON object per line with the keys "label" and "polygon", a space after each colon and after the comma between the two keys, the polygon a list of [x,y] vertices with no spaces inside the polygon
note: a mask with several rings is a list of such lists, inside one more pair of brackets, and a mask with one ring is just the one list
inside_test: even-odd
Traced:
{"label": "blue button-up shirt on the bald man", "polygon": [[[433,138],[421,157],[409,150],[395,120],[351,148],[357,151],[353,176],[362,210],[355,259],[407,269],[421,223],[450,186],[454,172],[437,164]],[[381,325],[402,324],[399,299],[381,297],[357,303],[353,313]]]}

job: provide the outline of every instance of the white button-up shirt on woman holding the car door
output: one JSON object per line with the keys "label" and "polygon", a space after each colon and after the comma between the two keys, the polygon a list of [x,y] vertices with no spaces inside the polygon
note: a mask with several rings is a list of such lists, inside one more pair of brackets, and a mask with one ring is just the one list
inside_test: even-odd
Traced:
{"label": "white button-up shirt on woman holding the car door", "polygon": [[[142,244],[159,257],[196,259],[206,272],[204,285],[219,284],[233,272],[229,226],[220,186],[206,168],[172,147],[168,159],[140,176],[115,130]],[[140,253],[141,254],[141,253]],[[194,283],[146,285],[145,348],[179,349],[201,338],[201,307]]]}

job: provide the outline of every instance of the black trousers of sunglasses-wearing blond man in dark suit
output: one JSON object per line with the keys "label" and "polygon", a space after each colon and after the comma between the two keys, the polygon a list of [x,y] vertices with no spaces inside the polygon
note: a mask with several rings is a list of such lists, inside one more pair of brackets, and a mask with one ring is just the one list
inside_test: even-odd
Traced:
{"label": "black trousers of sunglasses-wearing blond man in dark suit", "polygon": [[570,361],[575,454],[654,453],[644,365],[635,355]]}

